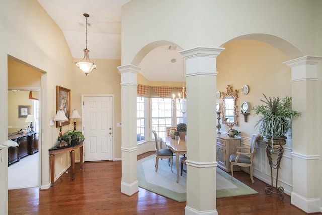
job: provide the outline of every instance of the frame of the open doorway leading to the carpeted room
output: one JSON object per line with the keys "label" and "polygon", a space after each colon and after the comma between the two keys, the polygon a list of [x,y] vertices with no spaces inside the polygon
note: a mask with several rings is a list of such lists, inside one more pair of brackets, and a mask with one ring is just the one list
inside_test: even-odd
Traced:
{"label": "frame of the open doorway leading to the carpeted room", "polygon": [[[41,189],[41,148],[42,148],[42,135],[41,135],[41,87],[8,87],[8,90],[21,90],[21,91],[38,91],[39,101],[39,121],[38,121],[38,188]],[[8,125],[7,125],[8,126]]]}

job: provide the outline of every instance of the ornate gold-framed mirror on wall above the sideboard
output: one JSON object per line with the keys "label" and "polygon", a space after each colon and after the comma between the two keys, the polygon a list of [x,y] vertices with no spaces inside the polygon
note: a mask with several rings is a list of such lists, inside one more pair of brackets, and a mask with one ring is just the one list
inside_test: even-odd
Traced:
{"label": "ornate gold-framed mirror on wall above the sideboard", "polygon": [[227,86],[227,92],[222,92],[222,123],[228,127],[238,126],[237,110],[238,90]]}

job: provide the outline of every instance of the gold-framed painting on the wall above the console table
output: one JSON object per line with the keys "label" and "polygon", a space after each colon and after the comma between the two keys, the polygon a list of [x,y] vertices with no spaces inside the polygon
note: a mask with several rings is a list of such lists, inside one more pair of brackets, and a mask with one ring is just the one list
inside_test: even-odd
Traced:
{"label": "gold-framed painting on the wall above the console table", "polygon": [[[67,88],[56,86],[56,113],[58,110],[63,110],[65,112],[68,121],[61,122],[61,126],[70,124],[70,91]],[[56,128],[59,127],[59,122],[56,122]]]}

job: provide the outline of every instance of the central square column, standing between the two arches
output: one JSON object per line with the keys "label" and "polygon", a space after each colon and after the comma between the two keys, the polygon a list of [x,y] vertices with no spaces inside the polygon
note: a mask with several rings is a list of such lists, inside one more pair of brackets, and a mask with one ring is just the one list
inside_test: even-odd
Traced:
{"label": "central square column, standing between the two arches", "polygon": [[[216,57],[224,48],[196,47],[186,59],[187,205],[185,214],[216,210]],[[193,114],[190,114],[193,113]]]}

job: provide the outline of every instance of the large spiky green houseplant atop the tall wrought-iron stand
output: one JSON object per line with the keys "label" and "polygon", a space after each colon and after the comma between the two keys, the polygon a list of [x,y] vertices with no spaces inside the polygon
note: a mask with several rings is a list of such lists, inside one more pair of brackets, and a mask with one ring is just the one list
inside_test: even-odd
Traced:
{"label": "large spiky green houseplant atop the tall wrought-iron stand", "polygon": [[279,97],[267,97],[264,93],[263,96],[265,100],[260,101],[264,104],[252,108],[256,115],[261,115],[255,127],[264,141],[284,145],[285,134],[292,126],[292,117],[300,115],[300,112],[292,110],[292,97],[285,96],[281,100]]}

